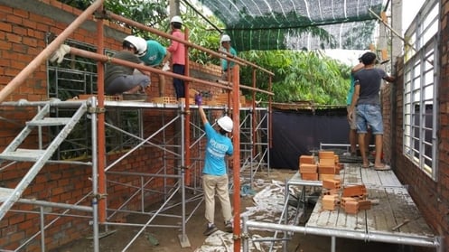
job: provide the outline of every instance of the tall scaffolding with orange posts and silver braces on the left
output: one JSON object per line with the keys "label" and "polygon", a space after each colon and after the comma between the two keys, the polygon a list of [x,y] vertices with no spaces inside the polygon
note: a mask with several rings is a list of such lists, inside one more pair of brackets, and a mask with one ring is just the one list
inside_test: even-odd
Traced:
{"label": "tall scaffolding with orange posts and silver braces on the left", "polygon": [[[126,251],[131,244],[136,240],[136,238],[142,234],[142,232],[147,227],[161,227],[159,224],[154,224],[154,219],[158,216],[166,216],[173,217],[173,219],[181,219],[180,224],[173,225],[165,225],[164,228],[174,228],[181,229],[181,234],[179,235],[179,240],[181,243],[181,247],[189,247],[190,243],[185,233],[185,224],[192,216],[193,212],[187,214],[185,210],[185,205],[187,203],[194,203],[196,206],[193,208],[194,210],[198,209],[199,205],[202,201],[201,194],[201,156],[192,157],[191,154],[202,154],[201,147],[202,142],[201,139],[204,138],[204,133],[201,133],[200,119],[197,115],[198,110],[196,109],[196,105],[190,105],[189,102],[178,103],[178,104],[159,104],[154,102],[136,102],[136,101],[114,101],[114,100],[106,100],[104,96],[104,87],[103,87],[103,76],[104,76],[104,66],[103,63],[106,61],[111,61],[113,63],[122,64],[125,66],[130,66],[139,70],[148,70],[158,74],[164,74],[166,76],[170,76],[173,78],[183,79],[186,81],[185,89],[189,90],[189,82],[201,83],[204,85],[209,85],[212,87],[225,89],[229,92],[229,100],[232,98],[234,101],[239,100],[239,89],[249,89],[255,92],[263,92],[269,96],[269,105],[271,104],[271,96],[273,93],[271,91],[261,90],[256,88],[256,84],[253,83],[253,87],[242,86],[239,83],[239,64],[246,64],[253,67],[253,70],[262,70],[267,73],[269,76],[269,89],[271,89],[271,76],[273,75],[271,72],[267,70],[263,70],[259,68],[257,65],[252,64],[251,62],[244,61],[243,59],[239,59],[237,57],[230,57],[230,55],[223,55],[222,53],[216,51],[210,51],[205,48],[201,48],[191,42],[188,42],[188,39],[179,40],[169,34],[162,33],[153,28],[147,27],[141,23],[136,23],[131,20],[127,20],[117,14],[112,14],[109,12],[105,12],[100,9],[103,4],[102,0],[95,1],[89,8],[84,11],[80,16],[58,36],[55,38],[53,42],[51,42],[27,67],[25,67],[8,85],[0,91],[0,102],[2,107],[26,107],[25,111],[30,112],[30,110],[35,110],[36,114],[42,114],[42,117],[49,119],[51,123],[45,122],[43,124],[39,124],[36,120],[32,120],[29,125],[35,126],[35,130],[37,130],[38,138],[39,138],[39,146],[37,146],[37,151],[27,150],[26,154],[20,156],[17,159],[17,155],[14,157],[5,158],[7,154],[12,154],[14,151],[17,151],[17,146],[12,146],[11,150],[8,148],[5,149],[4,155],[0,157],[3,161],[1,167],[1,171],[5,171],[8,167],[11,167],[14,163],[18,162],[28,162],[28,163],[40,163],[41,167],[37,167],[33,169],[33,173],[27,173],[23,178],[23,181],[19,183],[19,185],[14,189],[2,188],[0,191],[0,220],[5,217],[5,215],[9,211],[20,212],[23,214],[33,213],[39,214],[40,216],[40,231],[33,234],[30,238],[27,238],[25,242],[23,242],[19,247],[15,248],[14,251],[20,250],[23,247],[26,247],[30,242],[34,239],[41,238],[41,250],[46,251],[45,247],[45,229],[51,227],[51,224],[56,222],[58,219],[63,217],[70,218],[81,218],[88,219],[92,224],[92,239],[93,239],[93,250],[99,250],[99,238],[108,233],[109,226],[132,226],[140,228],[136,233],[135,238],[129,241],[126,247],[123,248],[122,251]],[[27,101],[27,100],[19,100],[13,102],[5,102],[5,98],[14,92],[32,72],[36,70],[42,62],[47,61],[49,56],[53,51],[56,51],[59,46],[73,33],[80,24],[86,21],[89,18],[89,15],[97,13],[97,16],[103,16],[108,18],[116,19],[119,22],[126,23],[136,27],[137,29],[141,29],[150,33],[155,33],[160,36],[164,36],[168,39],[175,40],[178,42],[184,43],[188,47],[196,48],[201,51],[209,52],[211,55],[220,58],[226,58],[229,61],[235,61],[236,67],[233,68],[233,76],[237,77],[233,79],[232,82],[227,82],[226,84],[221,84],[217,82],[210,82],[203,79],[194,79],[189,76],[188,73],[188,61],[186,61],[186,69],[187,73],[185,76],[173,74],[171,72],[164,72],[162,70],[157,70],[151,67],[145,67],[142,65],[119,61],[115,59],[111,59],[106,55],[101,53],[95,53],[91,51],[83,51],[74,47],[70,47],[70,54],[78,55],[81,57],[86,57],[95,61],[98,61],[98,95],[92,96],[86,100],[70,100],[70,101],[61,101],[59,99],[51,99],[49,101]],[[98,13],[102,15],[98,15]],[[97,19],[97,29],[98,29],[98,51],[104,51],[103,48],[103,19]],[[186,92],[188,93],[188,92]],[[232,93],[232,97],[230,95]],[[232,106],[204,106],[204,108],[208,111],[208,113],[216,113],[217,111],[226,111],[231,113],[234,124],[239,125],[239,127],[235,127],[233,131],[233,145],[235,146],[235,154],[232,161],[232,166],[234,167],[233,172],[233,192],[234,192],[234,208],[239,209],[239,185],[241,182],[250,182],[252,184],[253,178],[257,172],[262,171],[263,169],[267,169],[269,173],[269,146],[270,146],[270,106],[268,107],[257,107],[254,99],[255,95],[253,95],[252,106],[248,107],[239,107],[239,102],[234,102]],[[186,99],[187,100],[187,99]],[[46,107],[45,111],[42,112],[42,107]],[[83,107],[80,112],[77,112],[77,117],[86,117],[89,121],[90,132],[91,132],[91,146],[86,147],[86,149],[90,148],[90,160],[89,161],[65,161],[65,160],[53,160],[51,159],[52,154],[57,149],[57,146],[61,144],[61,141],[65,139],[65,137],[69,134],[64,133],[64,137],[57,136],[55,139],[48,139],[44,134],[42,134],[42,127],[44,126],[61,126],[60,124],[56,124],[56,117],[48,117],[50,111],[54,111],[54,109],[59,108],[76,108]],[[124,109],[124,108],[133,108],[143,113],[145,111],[153,111],[158,113],[161,117],[161,120],[165,120],[165,113],[170,113],[171,115],[175,114],[170,120],[164,121],[164,126],[154,130],[153,132],[142,132],[139,135],[132,134],[130,132],[126,132],[121,129],[119,126],[115,126],[113,122],[108,122],[105,118],[105,110],[107,108],[113,109]],[[42,123],[40,121],[40,123]],[[73,123],[70,123],[70,127],[72,127]],[[165,130],[168,127],[178,128],[178,134],[175,135],[178,141],[174,141],[173,138],[168,139],[165,138]],[[112,129],[115,131],[119,131],[122,134],[128,135],[130,138],[134,139],[134,146],[130,147],[126,152],[122,152],[117,154],[117,159],[110,160],[108,163],[106,153],[106,130]],[[33,129],[34,130],[34,129]],[[27,129],[27,132],[31,132],[32,129]],[[241,132],[240,132],[241,131]],[[194,135],[191,135],[192,132],[195,132]],[[161,136],[162,135],[162,136]],[[35,135],[34,135],[35,136]],[[154,141],[156,136],[160,136],[158,142]],[[244,139],[244,141],[240,141],[240,137]],[[24,136],[21,138],[24,138]],[[42,139],[48,140],[49,143],[41,141]],[[161,142],[160,139],[163,139]],[[193,140],[192,140],[193,139]],[[23,139],[21,139],[23,140]],[[55,143],[55,141],[59,143]],[[54,144],[53,144],[54,143]],[[47,148],[47,146],[55,146],[51,147],[51,149]],[[126,160],[126,158],[135,152],[138,152],[143,147],[152,147],[161,150],[164,153],[164,156],[169,156],[164,158],[164,162],[161,167],[158,169],[156,173],[137,173],[137,172],[129,172],[129,171],[120,171],[117,169],[117,164]],[[8,152],[11,151],[11,152]],[[26,157],[28,154],[35,154],[35,159],[30,159]],[[43,155],[42,155],[43,154]],[[26,157],[26,159],[25,159]],[[172,158],[175,162],[165,162],[167,159]],[[10,161],[9,163],[5,161]],[[63,203],[63,202],[53,202],[53,201],[40,201],[37,199],[25,199],[22,197],[23,191],[26,187],[33,181],[34,177],[37,173],[39,173],[42,166],[47,163],[57,163],[57,164],[67,164],[67,165],[82,165],[91,167],[91,173],[93,174],[89,180],[91,180],[92,188],[90,191],[87,191],[85,195],[80,197],[78,201],[73,204]],[[173,167],[169,167],[167,163],[176,163]],[[170,171],[168,171],[170,170]],[[243,176],[240,176],[240,173]],[[120,182],[120,177],[135,177],[138,178],[140,184],[138,186],[133,184],[125,184]],[[151,182],[156,179],[161,179],[163,181],[163,186],[160,188],[160,191],[156,191],[153,188],[149,187]],[[133,191],[131,195],[128,195],[126,201],[123,201],[117,208],[112,209],[108,207],[107,197],[108,197],[108,186],[109,185],[119,185],[122,187],[131,187],[130,191]],[[192,191],[192,197],[186,196],[186,190]],[[148,195],[160,195],[163,198],[162,204],[155,210],[145,210],[147,207],[147,202],[145,201],[148,198]],[[181,195],[181,196],[179,196]],[[139,210],[128,210],[127,204],[131,201],[140,201]],[[90,206],[82,205],[82,203],[90,201]],[[173,203],[173,201],[175,203]],[[19,204],[32,204],[35,206],[39,206],[39,210],[17,210],[14,209],[13,206],[15,203]],[[167,210],[172,209],[175,206],[181,206],[182,212],[178,215],[166,213]],[[58,209],[61,211],[52,211],[54,209]],[[142,214],[148,217],[148,220],[145,223],[125,223],[125,222],[115,222],[113,219],[119,215],[129,215],[129,214]],[[51,219],[49,223],[45,223],[45,216],[51,215],[54,219]],[[239,214],[236,214],[234,217],[234,222],[239,223]],[[104,227],[104,233],[100,233],[100,226]],[[240,237],[240,227],[236,225],[234,228],[234,236]],[[240,248],[239,238],[236,239],[234,247]],[[238,251],[238,249],[235,249]]]}

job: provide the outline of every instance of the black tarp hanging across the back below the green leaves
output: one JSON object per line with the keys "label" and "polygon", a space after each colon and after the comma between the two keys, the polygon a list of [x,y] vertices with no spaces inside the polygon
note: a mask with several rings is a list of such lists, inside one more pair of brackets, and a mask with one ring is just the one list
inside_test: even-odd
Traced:
{"label": "black tarp hanging across the back below the green leaves", "polygon": [[323,144],[349,144],[345,107],[317,110],[275,110],[270,167],[298,169],[299,156]]}

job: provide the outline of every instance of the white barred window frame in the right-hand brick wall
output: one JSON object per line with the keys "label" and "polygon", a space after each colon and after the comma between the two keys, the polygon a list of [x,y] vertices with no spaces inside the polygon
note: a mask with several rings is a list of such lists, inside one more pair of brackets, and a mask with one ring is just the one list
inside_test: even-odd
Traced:
{"label": "white barred window frame in the right-hand brick wall", "polygon": [[403,154],[436,180],[438,171],[439,3],[423,5],[407,29],[404,56]]}

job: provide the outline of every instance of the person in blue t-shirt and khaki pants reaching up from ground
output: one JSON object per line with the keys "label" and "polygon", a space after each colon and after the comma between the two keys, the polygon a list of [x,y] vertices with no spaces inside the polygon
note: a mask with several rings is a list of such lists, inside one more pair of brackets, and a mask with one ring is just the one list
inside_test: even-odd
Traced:
{"label": "person in blue t-shirt and khaki pants reaching up from ground", "polygon": [[234,152],[232,141],[227,136],[228,133],[232,132],[233,122],[228,116],[220,117],[217,120],[217,130],[215,130],[210,126],[206,114],[201,107],[201,99],[197,100],[196,103],[207,137],[204,167],[202,169],[202,188],[204,190],[204,201],[206,204],[205,218],[208,223],[203,234],[209,236],[218,230],[214,223],[215,194],[217,194],[220,200],[224,228],[230,233],[233,230],[232,210],[229,201],[229,178],[225,156],[232,155]]}

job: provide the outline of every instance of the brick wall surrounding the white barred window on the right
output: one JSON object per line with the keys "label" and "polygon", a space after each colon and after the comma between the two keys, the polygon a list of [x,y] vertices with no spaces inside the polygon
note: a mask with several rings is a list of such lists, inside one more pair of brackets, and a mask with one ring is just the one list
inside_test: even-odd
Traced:
{"label": "brick wall surrounding the white barred window on the right", "polygon": [[[396,85],[383,91],[384,152],[393,164],[395,173],[416,201],[427,223],[437,235],[444,237],[444,247],[449,247],[449,1],[441,0],[442,13],[440,38],[440,77],[438,79],[439,115],[437,118],[438,172],[436,181],[416,168],[403,155],[403,59],[398,59]],[[391,100],[391,102],[390,102]]]}

